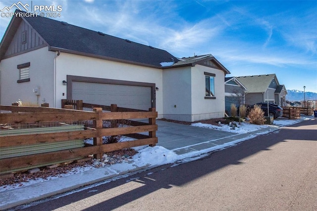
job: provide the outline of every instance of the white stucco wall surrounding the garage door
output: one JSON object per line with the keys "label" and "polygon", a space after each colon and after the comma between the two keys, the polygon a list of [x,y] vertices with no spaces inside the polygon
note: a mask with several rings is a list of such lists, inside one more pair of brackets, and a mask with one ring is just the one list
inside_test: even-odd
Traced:
{"label": "white stucco wall surrounding the garage door", "polygon": [[[162,118],[162,70],[151,67],[119,63],[104,59],[60,53],[56,57],[56,107],[60,107],[61,99],[66,99],[67,86],[62,85],[67,75],[104,78],[113,80],[155,83],[159,88],[156,91],[156,110]],[[62,96],[65,93],[65,96]],[[77,99],[80,100],[80,99]]]}

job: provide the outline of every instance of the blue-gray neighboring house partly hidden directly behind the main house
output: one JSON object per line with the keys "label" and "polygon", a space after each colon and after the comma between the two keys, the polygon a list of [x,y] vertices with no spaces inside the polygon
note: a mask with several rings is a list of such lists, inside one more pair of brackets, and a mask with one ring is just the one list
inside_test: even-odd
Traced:
{"label": "blue-gray neighboring house partly hidden directly behind the main house", "polygon": [[224,81],[225,111],[231,115],[231,104],[237,107],[245,104],[247,88],[236,77],[227,77]]}

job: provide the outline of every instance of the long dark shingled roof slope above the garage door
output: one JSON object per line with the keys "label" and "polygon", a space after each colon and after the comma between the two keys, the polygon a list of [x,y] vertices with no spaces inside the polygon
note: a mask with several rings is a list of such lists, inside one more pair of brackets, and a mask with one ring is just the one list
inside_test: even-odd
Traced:
{"label": "long dark shingled roof slope above the garage door", "polygon": [[131,42],[104,33],[74,26],[45,17],[23,17],[50,45],[78,54],[92,54],[115,60],[160,67],[161,62],[177,62],[172,54],[157,48]]}

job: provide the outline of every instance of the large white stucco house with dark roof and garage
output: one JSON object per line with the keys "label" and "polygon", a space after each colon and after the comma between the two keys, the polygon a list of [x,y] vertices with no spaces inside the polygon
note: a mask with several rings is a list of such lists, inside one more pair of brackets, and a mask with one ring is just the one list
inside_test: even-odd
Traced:
{"label": "large white stucco house with dark roof and garage", "polygon": [[44,17],[15,16],[0,44],[0,104],[61,99],[148,110],[182,121],[224,116],[224,78],[211,54],[172,54]]}

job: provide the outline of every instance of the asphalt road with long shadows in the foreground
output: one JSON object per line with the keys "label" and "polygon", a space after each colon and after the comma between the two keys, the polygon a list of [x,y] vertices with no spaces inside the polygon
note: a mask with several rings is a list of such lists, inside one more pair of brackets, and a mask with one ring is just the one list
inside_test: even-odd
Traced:
{"label": "asphalt road with long shadows in the foreground", "polygon": [[317,118],[30,211],[317,211]]}

